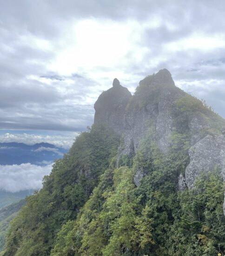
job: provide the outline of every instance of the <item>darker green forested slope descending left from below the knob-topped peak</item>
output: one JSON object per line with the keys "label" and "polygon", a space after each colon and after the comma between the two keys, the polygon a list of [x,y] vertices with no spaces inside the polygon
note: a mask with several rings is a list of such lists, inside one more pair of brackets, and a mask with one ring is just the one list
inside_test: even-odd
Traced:
{"label": "darker green forested slope descending left from below the knob-topped peak", "polygon": [[62,225],[76,218],[118,146],[118,136],[103,125],[81,133],[69,153],[54,163],[43,188],[26,198],[11,222],[4,255],[49,255]]}

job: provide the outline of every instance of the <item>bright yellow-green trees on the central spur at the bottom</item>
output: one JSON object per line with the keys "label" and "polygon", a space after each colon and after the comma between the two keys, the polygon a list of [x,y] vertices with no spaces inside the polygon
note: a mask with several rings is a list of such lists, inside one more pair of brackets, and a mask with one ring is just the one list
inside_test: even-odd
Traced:
{"label": "bright yellow-green trees on the central spur at the bottom", "polygon": [[132,169],[107,170],[68,232],[66,246],[57,243],[51,255],[70,255],[73,248],[72,255],[111,256],[153,244],[149,208],[143,209],[135,191]]}

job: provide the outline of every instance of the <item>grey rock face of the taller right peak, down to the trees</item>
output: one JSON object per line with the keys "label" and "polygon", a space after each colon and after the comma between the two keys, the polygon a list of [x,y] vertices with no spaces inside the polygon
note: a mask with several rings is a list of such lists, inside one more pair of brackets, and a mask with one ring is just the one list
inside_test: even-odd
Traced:
{"label": "grey rock face of the taller right peak, down to the trees", "polygon": [[[145,137],[149,127],[149,121],[154,120],[156,131],[159,137],[159,148],[166,153],[170,146],[169,137],[172,132],[172,108],[173,101],[180,95],[184,95],[175,87],[170,72],[166,69],[160,70],[157,74],[146,77],[140,81],[141,85],[147,85],[157,91],[157,101],[148,102],[141,108],[129,108],[124,116],[125,131],[124,144],[125,148],[119,149],[118,162],[121,155],[130,155],[136,153],[140,142]],[[159,85],[159,88],[158,88]],[[153,90],[153,91],[154,91]],[[134,97],[134,96],[133,96]]]}

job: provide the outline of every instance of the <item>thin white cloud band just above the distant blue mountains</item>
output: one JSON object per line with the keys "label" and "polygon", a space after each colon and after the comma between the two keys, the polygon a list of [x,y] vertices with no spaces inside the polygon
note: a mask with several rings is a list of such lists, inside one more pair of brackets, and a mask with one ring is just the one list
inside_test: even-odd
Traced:
{"label": "thin white cloud band just above the distant blue mountains", "polygon": [[[47,142],[59,148],[69,149],[78,133],[63,133],[62,135],[36,135],[36,134],[12,134],[0,135],[0,142],[21,142],[27,145],[34,145],[40,142]],[[41,147],[43,148],[43,147]]]}

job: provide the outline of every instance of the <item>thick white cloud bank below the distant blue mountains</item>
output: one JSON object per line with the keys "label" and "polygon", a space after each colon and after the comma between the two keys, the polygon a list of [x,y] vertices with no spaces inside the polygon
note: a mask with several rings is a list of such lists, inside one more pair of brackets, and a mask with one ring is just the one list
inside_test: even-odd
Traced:
{"label": "thick white cloud bank below the distant blue mountains", "polygon": [[43,177],[49,175],[51,169],[52,164],[44,167],[30,163],[0,165],[0,189],[9,192],[40,189]]}

